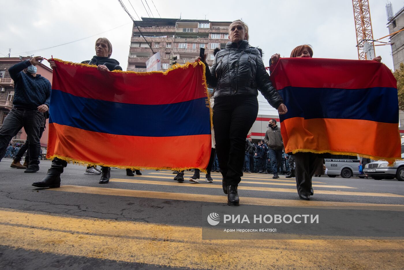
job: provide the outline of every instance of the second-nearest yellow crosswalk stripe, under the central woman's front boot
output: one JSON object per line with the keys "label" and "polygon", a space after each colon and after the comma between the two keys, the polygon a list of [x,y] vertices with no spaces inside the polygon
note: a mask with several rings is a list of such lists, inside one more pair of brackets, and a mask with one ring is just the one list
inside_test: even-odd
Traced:
{"label": "second-nearest yellow crosswalk stripe, under the central woman's front boot", "polygon": [[[110,196],[125,196],[125,197],[138,197],[138,198],[155,198],[165,200],[189,200],[196,202],[207,203],[227,203],[227,196],[223,195],[206,195],[206,194],[188,194],[188,193],[176,193],[176,192],[158,192],[158,191],[145,191],[145,190],[126,190],[120,188],[96,188],[86,186],[61,186],[60,188],[48,188],[46,190],[51,191],[63,191],[63,192],[76,192],[87,194],[100,194]],[[242,194],[240,194],[242,196]],[[297,195],[296,195],[297,197]],[[304,206],[304,207],[375,207],[375,206],[398,206],[402,205],[387,205],[377,203],[345,203],[345,202],[324,202],[315,200],[300,200],[298,197],[296,200],[284,200],[284,199],[269,199],[269,198],[253,198],[253,197],[241,197],[240,203],[243,205],[267,205],[267,206]],[[362,209],[362,208],[361,208]],[[371,208],[373,210],[374,208]]]}

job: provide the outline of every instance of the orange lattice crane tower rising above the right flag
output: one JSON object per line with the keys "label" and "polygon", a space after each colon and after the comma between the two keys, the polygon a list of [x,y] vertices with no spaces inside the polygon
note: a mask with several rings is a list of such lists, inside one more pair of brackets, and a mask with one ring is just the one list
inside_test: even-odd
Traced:
{"label": "orange lattice crane tower rising above the right flag", "polygon": [[[372,21],[370,20],[369,0],[352,0],[353,17],[355,19],[356,47],[359,60],[371,60],[366,57],[366,49],[375,52]],[[365,42],[367,44],[365,44]],[[374,53],[373,53],[374,55]]]}

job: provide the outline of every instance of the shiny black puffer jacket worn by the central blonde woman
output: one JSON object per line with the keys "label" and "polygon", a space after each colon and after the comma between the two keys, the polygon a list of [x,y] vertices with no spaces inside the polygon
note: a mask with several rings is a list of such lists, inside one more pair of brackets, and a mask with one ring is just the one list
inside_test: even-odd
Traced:
{"label": "shiny black puffer jacket worn by the central blonde woman", "polygon": [[250,47],[246,40],[227,42],[226,49],[215,55],[210,70],[206,68],[206,81],[211,88],[216,87],[214,97],[257,96],[259,89],[272,107],[278,109],[283,103],[269,80],[258,49]]}

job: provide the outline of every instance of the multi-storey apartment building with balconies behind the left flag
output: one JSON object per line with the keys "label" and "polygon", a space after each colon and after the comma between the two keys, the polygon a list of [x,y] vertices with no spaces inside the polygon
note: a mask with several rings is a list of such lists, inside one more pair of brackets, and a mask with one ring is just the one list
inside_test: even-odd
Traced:
{"label": "multi-storey apartment building with balconies behind the left flag", "polygon": [[[146,61],[160,51],[162,68],[169,68],[170,55],[177,63],[195,61],[205,48],[206,62],[213,62],[213,50],[225,48],[230,21],[142,18],[133,22],[127,70],[146,71]],[[143,36],[142,36],[143,35]]]}

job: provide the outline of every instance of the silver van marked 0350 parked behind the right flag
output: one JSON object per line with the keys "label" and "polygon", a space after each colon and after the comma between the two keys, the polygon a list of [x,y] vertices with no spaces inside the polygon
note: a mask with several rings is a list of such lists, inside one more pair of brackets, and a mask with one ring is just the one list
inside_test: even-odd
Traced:
{"label": "silver van marked 0350 parked behind the right flag", "polygon": [[365,177],[359,173],[360,160],[358,156],[329,155],[328,158],[324,158],[324,161],[326,162],[328,177],[336,177],[337,175],[341,175],[343,178],[350,178],[353,175]]}

